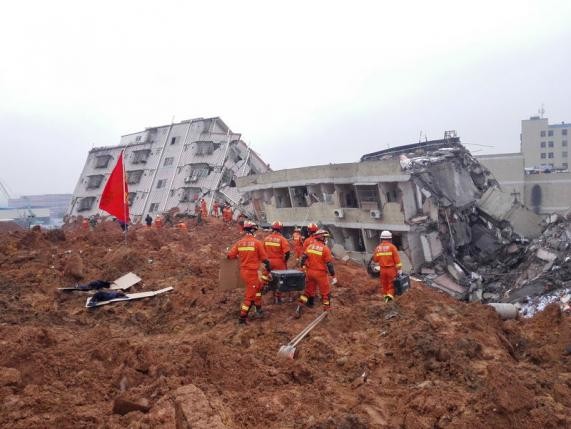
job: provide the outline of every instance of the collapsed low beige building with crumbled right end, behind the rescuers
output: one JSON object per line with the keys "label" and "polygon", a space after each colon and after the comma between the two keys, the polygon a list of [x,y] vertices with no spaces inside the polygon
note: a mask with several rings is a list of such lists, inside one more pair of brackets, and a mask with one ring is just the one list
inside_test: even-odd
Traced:
{"label": "collapsed low beige building with crumbled right end, behind the rescuers", "polygon": [[479,264],[541,233],[541,218],[502,192],[455,133],[363,155],[360,162],[250,175],[236,181],[262,222],[318,222],[333,250],[367,263],[390,230],[403,266],[460,299],[480,300]]}

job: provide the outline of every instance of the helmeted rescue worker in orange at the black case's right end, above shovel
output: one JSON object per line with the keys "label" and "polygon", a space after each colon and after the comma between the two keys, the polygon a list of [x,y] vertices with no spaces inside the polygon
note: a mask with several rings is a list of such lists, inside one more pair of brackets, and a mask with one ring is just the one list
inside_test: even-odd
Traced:
{"label": "helmeted rescue worker in orange at the black case's right end, above shovel", "polygon": [[331,286],[327,274],[333,277],[331,284],[337,284],[335,268],[333,267],[333,256],[327,247],[329,233],[323,229],[313,234],[313,240],[304,250],[301,257],[301,266],[306,272],[305,291],[299,296],[299,305],[296,310],[296,317],[301,316],[302,305],[313,307],[314,297],[319,288],[323,310],[331,308]]}

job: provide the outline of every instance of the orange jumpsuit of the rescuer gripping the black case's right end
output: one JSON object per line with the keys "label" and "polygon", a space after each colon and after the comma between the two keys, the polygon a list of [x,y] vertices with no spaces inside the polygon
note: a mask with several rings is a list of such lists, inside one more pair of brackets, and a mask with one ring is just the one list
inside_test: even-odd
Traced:
{"label": "orange jumpsuit of the rescuer gripping the black case's right end", "polygon": [[[327,277],[327,263],[333,261],[331,250],[320,240],[313,239],[312,243],[304,251],[306,257],[304,267],[306,271],[305,291],[299,297],[302,304],[308,303],[308,298],[313,298],[319,288],[324,310],[329,310],[331,306],[329,293],[331,286]],[[333,274],[333,273],[331,273]]]}

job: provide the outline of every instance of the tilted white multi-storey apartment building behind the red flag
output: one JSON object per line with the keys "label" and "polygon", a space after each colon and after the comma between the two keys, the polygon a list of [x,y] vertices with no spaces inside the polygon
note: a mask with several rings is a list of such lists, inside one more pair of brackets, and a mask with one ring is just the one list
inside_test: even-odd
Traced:
{"label": "tilted white multi-storey apartment building behind the red flag", "polygon": [[67,214],[105,214],[99,199],[125,150],[131,219],[140,221],[178,207],[194,213],[205,198],[237,206],[236,177],[264,173],[268,165],[218,117],[197,118],[146,128],[121,137],[120,144],[89,151]]}

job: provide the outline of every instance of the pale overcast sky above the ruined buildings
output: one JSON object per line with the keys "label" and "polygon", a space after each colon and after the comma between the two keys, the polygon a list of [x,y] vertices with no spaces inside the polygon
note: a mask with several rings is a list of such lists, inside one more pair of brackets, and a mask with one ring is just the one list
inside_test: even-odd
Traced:
{"label": "pale overcast sky above the ruined buildings", "polygon": [[571,121],[571,2],[464,3],[3,2],[0,180],[71,193],[93,145],[173,116],[221,116],[274,169],[421,131],[517,152],[542,103]]}

